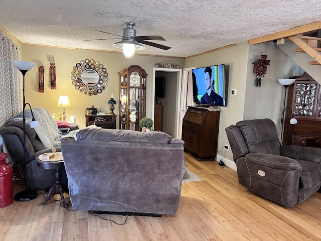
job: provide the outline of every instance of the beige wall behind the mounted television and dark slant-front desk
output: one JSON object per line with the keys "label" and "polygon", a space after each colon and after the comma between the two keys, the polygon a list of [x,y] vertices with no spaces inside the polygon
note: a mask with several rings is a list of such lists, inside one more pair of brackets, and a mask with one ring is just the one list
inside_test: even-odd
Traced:
{"label": "beige wall behind the mounted television and dark slant-front desk", "polygon": [[[205,67],[225,64],[228,69],[228,99],[227,107],[221,107],[218,151],[228,144],[225,128],[243,119],[246,87],[248,44],[241,43],[234,47],[199,55],[185,60],[185,68]],[[237,95],[231,95],[231,89],[237,89]],[[233,160],[232,152],[226,153],[226,158]]]}

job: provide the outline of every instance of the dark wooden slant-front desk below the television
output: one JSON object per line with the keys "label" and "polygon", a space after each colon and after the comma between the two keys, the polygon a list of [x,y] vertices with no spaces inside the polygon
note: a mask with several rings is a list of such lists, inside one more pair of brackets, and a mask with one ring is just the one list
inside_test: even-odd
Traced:
{"label": "dark wooden slant-front desk below the television", "polygon": [[182,140],[185,151],[197,159],[214,160],[217,153],[220,109],[189,106],[183,118]]}

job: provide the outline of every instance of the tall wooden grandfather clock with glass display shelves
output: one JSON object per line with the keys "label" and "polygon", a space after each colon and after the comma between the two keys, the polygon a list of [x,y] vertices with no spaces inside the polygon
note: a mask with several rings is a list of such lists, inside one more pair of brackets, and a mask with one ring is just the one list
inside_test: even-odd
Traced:
{"label": "tall wooden grandfather clock with glass display shelves", "polygon": [[146,116],[146,72],[131,65],[119,75],[119,129],[139,131],[139,121]]}

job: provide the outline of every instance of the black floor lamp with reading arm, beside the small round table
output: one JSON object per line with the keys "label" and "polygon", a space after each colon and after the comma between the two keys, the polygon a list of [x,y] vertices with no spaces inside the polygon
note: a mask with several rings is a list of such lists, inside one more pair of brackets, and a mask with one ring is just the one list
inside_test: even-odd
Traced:
{"label": "black floor lamp with reading arm, beside the small round table", "polygon": [[23,132],[24,132],[24,161],[25,161],[25,166],[23,170],[23,175],[24,175],[24,180],[25,180],[25,190],[17,193],[14,197],[16,201],[30,201],[32,199],[35,199],[38,196],[38,193],[34,190],[28,190],[28,182],[27,182],[27,151],[26,151],[26,129],[25,129],[25,124],[26,124],[26,117],[25,117],[25,108],[26,105],[28,104],[32,113],[32,122],[30,123],[30,127],[35,128],[36,126],[39,125],[39,123],[35,120],[31,106],[29,103],[26,103],[26,98],[25,98],[25,75],[26,73],[34,68],[36,66],[36,63],[34,62],[29,62],[29,61],[20,61],[20,60],[12,60],[12,64],[20,70],[20,72],[23,75]]}

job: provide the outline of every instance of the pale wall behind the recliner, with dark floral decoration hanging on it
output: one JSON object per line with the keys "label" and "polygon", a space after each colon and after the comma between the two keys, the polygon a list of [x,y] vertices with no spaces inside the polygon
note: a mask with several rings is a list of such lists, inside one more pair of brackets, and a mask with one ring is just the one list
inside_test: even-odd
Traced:
{"label": "pale wall behind the recliner, with dark floral decoration hanging on it", "polygon": [[[270,65],[267,66],[266,75],[261,78],[261,87],[256,87],[253,63],[265,54],[270,60]],[[278,79],[299,75],[301,71],[301,68],[275,43],[267,42],[249,46],[243,118],[270,118],[280,133],[285,88],[278,82]]]}

